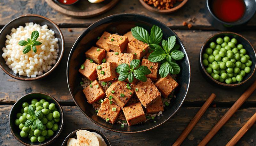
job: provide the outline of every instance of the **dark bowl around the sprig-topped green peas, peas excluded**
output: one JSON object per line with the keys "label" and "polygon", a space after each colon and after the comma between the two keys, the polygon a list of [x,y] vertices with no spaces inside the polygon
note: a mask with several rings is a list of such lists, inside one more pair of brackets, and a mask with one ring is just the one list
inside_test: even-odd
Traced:
{"label": "dark bowl around the sprig-topped green peas, peas excluded", "polygon": [[[21,104],[23,102],[28,102],[30,103],[32,99],[45,99],[46,101],[48,101],[50,104],[53,103],[55,104],[55,107],[58,109],[58,111],[60,112],[60,121],[58,122],[59,124],[59,129],[57,131],[54,132],[54,135],[52,137],[50,137],[49,139],[45,139],[44,142],[31,142],[30,139],[28,139],[28,137],[26,138],[22,138],[20,136],[20,128],[19,126],[16,126],[14,124],[14,121],[16,118],[16,114],[20,112],[20,109],[22,108]],[[34,146],[34,145],[38,145],[38,146],[44,146],[44,145],[49,145],[50,143],[52,143],[59,135],[60,132],[62,131],[63,125],[64,125],[64,114],[63,114],[63,110],[62,107],[60,106],[60,104],[58,103],[58,101],[53,98],[50,95],[44,94],[44,93],[40,93],[40,92],[36,92],[36,93],[29,93],[27,95],[22,96],[13,106],[9,115],[9,127],[11,129],[12,135],[22,144],[26,145],[26,146]]]}

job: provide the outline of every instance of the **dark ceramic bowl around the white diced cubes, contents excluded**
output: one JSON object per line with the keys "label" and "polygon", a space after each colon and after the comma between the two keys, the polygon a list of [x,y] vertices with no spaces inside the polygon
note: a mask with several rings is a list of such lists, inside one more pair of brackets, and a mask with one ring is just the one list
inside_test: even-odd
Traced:
{"label": "dark ceramic bowl around the white diced cubes, contents excluded", "polygon": [[35,78],[31,78],[31,77],[27,77],[27,76],[20,76],[19,73],[17,73],[17,74],[13,73],[12,69],[10,69],[8,67],[8,65],[5,64],[3,57],[0,57],[0,68],[2,68],[2,70],[5,73],[7,73],[9,76],[11,76],[12,78],[22,80],[22,81],[33,81],[33,80],[37,80],[37,79],[42,79],[45,76],[49,75],[56,68],[56,66],[60,63],[60,60],[64,53],[64,37],[60,31],[60,28],[48,18],[45,18],[40,15],[33,15],[33,14],[19,16],[19,17],[13,19],[12,21],[10,21],[9,23],[7,23],[0,32],[0,48],[1,48],[0,54],[1,54],[1,56],[3,54],[2,48],[5,47],[5,45],[4,45],[4,43],[6,41],[5,36],[10,35],[12,27],[18,28],[19,26],[25,26],[25,23],[27,23],[27,22],[34,22],[36,24],[40,24],[41,26],[47,24],[48,29],[52,29],[55,32],[55,38],[56,37],[58,38],[58,40],[59,40],[58,43],[59,43],[59,48],[60,48],[59,56],[56,59],[56,64],[53,65],[52,68],[48,72],[46,72],[46,73],[44,72],[44,74],[42,74],[40,76],[36,76]]}

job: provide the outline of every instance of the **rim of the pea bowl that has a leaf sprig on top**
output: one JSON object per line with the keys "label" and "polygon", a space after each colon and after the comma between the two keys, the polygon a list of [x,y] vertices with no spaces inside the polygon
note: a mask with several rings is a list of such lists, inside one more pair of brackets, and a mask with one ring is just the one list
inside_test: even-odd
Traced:
{"label": "rim of the pea bowl that has a leaf sprig on top", "polygon": [[9,128],[10,128],[10,130],[11,130],[11,133],[12,133],[13,137],[15,137],[15,139],[16,139],[17,141],[19,141],[20,143],[22,143],[22,144],[24,144],[24,145],[26,145],[26,146],[35,146],[35,145],[30,145],[30,144],[27,144],[27,143],[21,141],[21,140],[14,134],[14,132],[13,132],[13,130],[12,130],[12,127],[11,127],[11,113],[12,113],[13,107],[14,107],[14,106],[18,103],[18,101],[20,101],[23,97],[26,97],[26,96],[31,95],[31,94],[43,94],[43,95],[49,96],[49,97],[51,97],[51,98],[58,104],[58,106],[60,107],[60,110],[61,110],[61,113],[62,113],[62,122],[60,123],[60,131],[59,131],[54,137],[52,137],[52,138],[49,140],[49,142],[46,142],[46,143],[40,144],[40,145],[36,145],[36,146],[45,146],[45,145],[49,145],[49,144],[52,143],[54,140],[56,140],[56,138],[60,135],[60,133],[61,133],[61,131],[62,131],[62,129],[63,129],[63,126],[64,126],[64,112],[63,112],[63,109],[62,109],[60,103],[59,103],[54,97],[52,97],[51,95],[48,95],[48,94],[42,93],[42,92],[33,92],[33,93],[28,93],[28,94],[26,94],[26,95],[20,97],[20,99],[18,99],[18,100],[15,102],[15,104],[13,104],[13,106],[12,106],[12,108],[11,108],[11,110],[10,110],[10,114],[9,114]]}

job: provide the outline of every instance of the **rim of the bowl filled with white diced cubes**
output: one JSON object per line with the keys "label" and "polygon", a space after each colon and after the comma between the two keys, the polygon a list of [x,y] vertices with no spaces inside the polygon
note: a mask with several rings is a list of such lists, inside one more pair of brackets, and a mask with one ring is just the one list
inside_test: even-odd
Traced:
{"label": "rim of the bowl filled with white diced cubes", "polygon": [[[32,16],[32,17],[39,17],[39,18],[45,19],[45,20],[49,21],[50,23],[52,23],[52,25],[57,28],[58,33],[60,34],[60,40],[61,40],[61,42],[62,42],[62,45],[59,46],[59,47],[62,48],[62,49],[60,49],[60,52],[59,52],[59,55],[58,55],[59,59],[57,59],[56,64],[53,65],[52,68],[51,68],[49,71],[47,71],[46,73],[43,73],[42,75],[37,76],[37,77],[35,77],[35,78],[31,78],[31,77],[30,77],[30,78],[24,78],[25,76],[24,76],[24,77],[14,76],[12,73],[10,73],[10,72],[8,72],[7,70],[5,70],[4,67],[0,64],[0,68],[1,68],[5,73],[7,73],[7,74],[8,74],[9,76],[11,76],[12,78],[17,79],[17,80],[21,80],[21,81],[34,81],[34,80],[37,80],[37,79],[41,79],[41,78],[47,76],[48,74],[52,73],[52,71],[57,67],[57,65],[59,65],[60,60],[61,60],[61,58],[63,57],[64,48],[65,48],[64,36],[63,36],[63,34],[62,34],[60,28],[59,28],[52,20],[50,20],[50,19],[48,19],[48,18],[46,18],[46,17],[44,17],[44,16],[40,16],[40,15],[36,15],[36,14],[21,15],[21,16],[19,16],[19,17],[16,17],[16,18],[12,19],[10,22],[8,22],[8,23],[1,29],[0,34],[1,34],[2,31],[5,29],[5,27],[7,27],[8,25],[10,25],[10,23],[12,23],[12,22],[14,22],[14,21],[16,21],[16,20],[18,20],[18,19],[20,19],[20,18],[23,18],[23,17],[31,17],[31,16]],[[25,23],[24,23],[24,24],[25,24]],[[55,33],[56,33],[56,32],[55,32]]]}

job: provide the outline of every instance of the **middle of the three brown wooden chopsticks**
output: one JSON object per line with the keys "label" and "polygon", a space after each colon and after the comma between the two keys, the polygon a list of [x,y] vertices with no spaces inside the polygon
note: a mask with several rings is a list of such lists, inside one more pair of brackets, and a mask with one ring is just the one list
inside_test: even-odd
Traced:
{"label": "middle of the three brown wooden chopsticks", "polygon": [[212,130],[204,137],[198,146],[205,146],[212,137],[220,130],[220,128],[231,118],[231,116],[241,107],[245,100],[256,89],[256,80],[252,85],[237,99],[235,104],[226,112],[226,114],[219,120],[219,122],[212,128]]}

